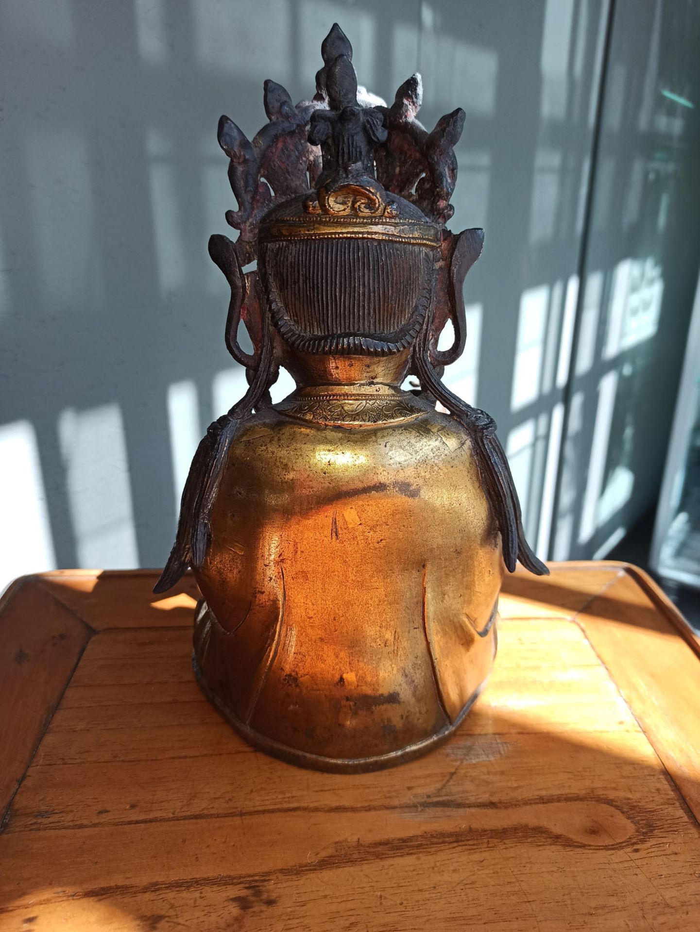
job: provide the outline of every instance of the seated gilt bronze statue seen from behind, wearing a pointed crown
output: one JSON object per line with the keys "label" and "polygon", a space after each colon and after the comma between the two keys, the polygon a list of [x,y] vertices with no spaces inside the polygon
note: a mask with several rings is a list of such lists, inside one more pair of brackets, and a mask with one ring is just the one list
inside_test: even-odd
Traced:
{"label": "seated gilt bronze statue seen from behind, wearing a pointed crown", "polygon": [[[483,243],[445,226],[464,113],[425,130],[419,75],[371,105],[337,26],[322,55],[310,102],[266,82],[252,143],[219,122],[240,236],[209,250],[249,389],[199,444],[156,591],[193,569],[195,671],[241,734],[368,770],[457,727],[493,663],[504,570],[547,570],[496,425],[440,378],[464,349],[462,282]],[[272,404],[281,365],[296,389]]]}

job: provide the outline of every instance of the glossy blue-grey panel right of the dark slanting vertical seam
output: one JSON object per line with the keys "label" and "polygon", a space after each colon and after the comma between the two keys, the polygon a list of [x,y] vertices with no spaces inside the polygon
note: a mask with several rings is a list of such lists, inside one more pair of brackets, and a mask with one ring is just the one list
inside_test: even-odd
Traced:
{"label": "glossy blue-grey panel right of the dark slanting vertical seam", "polygon": [[616,4],[555,557],[604,555],[658,496],[700,257],[698,48],[692,0]]}

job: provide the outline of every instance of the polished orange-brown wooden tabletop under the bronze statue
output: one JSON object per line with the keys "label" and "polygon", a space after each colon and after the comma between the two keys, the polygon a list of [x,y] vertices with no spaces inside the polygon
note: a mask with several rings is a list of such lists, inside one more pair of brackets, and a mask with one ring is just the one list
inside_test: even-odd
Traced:
{"label": "polished orange-brown wooden tabletop under the bronze statue", "polygon": [[2,932],[700,928],[698,645],[638,569],[516,573],[460,731],[352,775],[245,745],[155,580],[7,592]]}

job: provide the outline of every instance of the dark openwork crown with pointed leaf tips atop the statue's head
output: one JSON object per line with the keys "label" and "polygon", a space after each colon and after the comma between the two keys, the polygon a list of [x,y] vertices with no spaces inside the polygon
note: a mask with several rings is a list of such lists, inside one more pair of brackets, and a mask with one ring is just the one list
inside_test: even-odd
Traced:
{"label": "dark openwork crown with pointed leaf tips atop the statue's head", "polygon": [[294,105],[280,84],[265,82],[269,122],[252,143],[233,120],[219,120],[218,140],[230,159],[228,179],[239,205],[238,211],[226,212],[226,222],[240,230],[237,253],[243,265],[254,259],[262,217],[295,195],[318,189],[318,198],[309,198],[309,212],[347,214],[350,208],[360,215],[387,210],[391,215],[391,199],[358,197],[350,190],[334,197],[327,183],[335,180],[342,187],[342,176],[375,176],[384,191],[415,204],[440,226],[454,212],[449,203],[457,180],[453,148],[464,111],[458,108],[431,132],[425,130],[417,119],[420,75],[401,85],[391,106],[372,105],[358,88],[352,47],[337,23],[321,54],[313,100]]}

